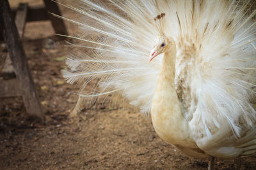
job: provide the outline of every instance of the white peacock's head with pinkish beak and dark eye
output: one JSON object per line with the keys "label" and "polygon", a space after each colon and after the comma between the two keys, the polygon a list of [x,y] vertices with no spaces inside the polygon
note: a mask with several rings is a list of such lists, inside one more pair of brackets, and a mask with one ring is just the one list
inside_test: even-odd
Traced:
{"label": "white peacock's head with pinkish beak and dark eye", "polygon": [[149,56],[149,62],[157,57],[157,55],[171,50],[171,46],[175,45],[172,38],[167,38],[165,35],[157,36],[153,50]]}

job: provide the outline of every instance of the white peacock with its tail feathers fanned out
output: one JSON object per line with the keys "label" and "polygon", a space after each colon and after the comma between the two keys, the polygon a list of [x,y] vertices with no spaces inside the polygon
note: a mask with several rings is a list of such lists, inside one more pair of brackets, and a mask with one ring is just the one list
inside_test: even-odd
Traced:
{"label": "white peacock with its tail feathers fanned out", "polygon": [[[70,2],[69,2],[70,3]],[[157,134],[192,157],[256,152],[255,1],[65,4],[83,15],[63,71],[83,101],[119,93],[151,113]],[[157,17],[156,17],[157,16]],[[150,55],[150,62],[148,62]],[[97,81],[95,81],[97,80]],[[90,82],[93,88],[86,89]]]}

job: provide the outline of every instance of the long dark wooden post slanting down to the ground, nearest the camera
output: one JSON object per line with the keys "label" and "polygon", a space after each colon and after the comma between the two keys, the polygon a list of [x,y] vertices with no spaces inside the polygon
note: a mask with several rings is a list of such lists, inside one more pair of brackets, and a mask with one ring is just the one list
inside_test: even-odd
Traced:
{"label": "long dark wooden post slanting down to the ground, nearest the camera", "polygon": [[38,95],[31,74],[28,61],[20,41],[15,22],[12,20],[11,9],[8,0],[0,1],[0,27],[3,30],[4,40],[8,46],[10,57],[19,81],[22,99],[27,113],[34,118],[44,120]]}

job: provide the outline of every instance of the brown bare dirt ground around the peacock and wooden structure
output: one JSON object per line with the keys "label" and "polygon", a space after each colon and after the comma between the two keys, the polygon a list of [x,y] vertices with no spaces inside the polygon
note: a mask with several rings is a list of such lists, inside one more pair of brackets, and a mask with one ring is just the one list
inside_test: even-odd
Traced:
{"label": "brown bare dirt ground around the peacock and wooden structure", "polygon": [[[10,2],[17,6],[17,1]],[[76,32],[76,25],[66,24],[70,34]],[[49,39],[55,48],[45,47]],[[26,25],[23,45],[46,120],[31,121],[21,97],[0,98],[0,169],[207,169],[207,159],[193,159],[165,143],[150,117],[132,106],[104,104],[70,118],[76,104],[71,92],[77,89],[61,76],[66,44],[54,36],[49,21]],[[6,52],[1,42],[0,76]],[[217,159],[215,166],[234,169],[234,160]],[[256,169],[256,157],[242,158],[241,169]]]}

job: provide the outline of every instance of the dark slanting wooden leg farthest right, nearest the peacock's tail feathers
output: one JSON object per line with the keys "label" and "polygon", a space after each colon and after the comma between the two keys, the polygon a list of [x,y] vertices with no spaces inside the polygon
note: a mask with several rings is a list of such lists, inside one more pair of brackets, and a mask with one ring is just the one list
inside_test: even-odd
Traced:
{"label": "dark slanting wooden leg farthest right, nearest the peacock's tail feathers", "polygon": [[[61,16],[60,9],[56,3],[51,0],[44,0],[45,8],[47,11]],[[49,19],[51,20],[52,27],[57,34],[67,35],[67,28],[60,18],[54,17],[49,13]]]}

